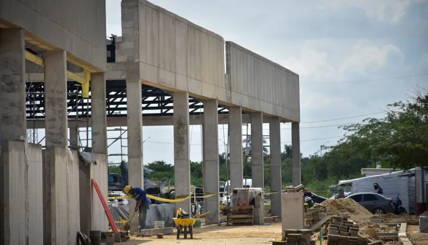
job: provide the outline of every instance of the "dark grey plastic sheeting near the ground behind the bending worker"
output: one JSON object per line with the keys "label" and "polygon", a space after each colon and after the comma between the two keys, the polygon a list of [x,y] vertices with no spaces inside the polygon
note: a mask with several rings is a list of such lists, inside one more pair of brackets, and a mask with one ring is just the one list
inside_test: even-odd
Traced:
{"label": "dark grey plastic sheeting near the ground behind the bending worker", "polygon": [[[109,207],[113,220],[119,222],[120,219],[129,220],[129,206]],[[131,210],[133,213],[133,210]],[[146,229],[154,229],[155,221],[164,221],[165,227],[174,227],[175,206],[172,204],[152,204],[147,210]],[[138,211],[133,217],[138,219]],[[123,227],[124,224],[116,223],[117,227]]]}

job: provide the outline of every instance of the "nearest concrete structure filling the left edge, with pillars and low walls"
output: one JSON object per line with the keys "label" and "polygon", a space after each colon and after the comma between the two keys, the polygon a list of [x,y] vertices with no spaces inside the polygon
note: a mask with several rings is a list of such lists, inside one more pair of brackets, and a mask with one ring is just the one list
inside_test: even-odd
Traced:
{"label": "nearest concrete structure filling the left edge, with pillars and low walls", "polygon": [[[79,183],[79,161],[68,150],[67,125],[67,77],[79,81],[86,95],[91,83],[93,151],[99,155],[97,165],[84,171],[100,183],[106,198],[105,64],[104,0],[0,2],[0,216],[5,217],[0,243],[76,244],[81,222],[87,224],[87,234],[108,228],[99,199],[93,205],[90,198],[90,182],[79,188],[88,179]],[[29,96],[32,81],[26,74],[35,69],[43,75],[44,94]],[[41,145],[25,142],[26,104],[40,95],[44,152]],[[79,203],[82,196],[85,203]]]}

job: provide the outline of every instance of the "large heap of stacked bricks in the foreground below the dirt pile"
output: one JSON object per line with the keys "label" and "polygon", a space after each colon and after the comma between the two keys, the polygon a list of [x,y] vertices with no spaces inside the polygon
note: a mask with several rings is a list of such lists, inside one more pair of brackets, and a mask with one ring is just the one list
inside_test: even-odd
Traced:
{"label": "large heap of stacked bricks in the foreground below the dirt pile", "polygon": [[360,227],[348,219],[349,215],[341,214],[332,217],[331,223],[326,222],[321,231],[328,245],[367,245],[368,238],[358,235]]}

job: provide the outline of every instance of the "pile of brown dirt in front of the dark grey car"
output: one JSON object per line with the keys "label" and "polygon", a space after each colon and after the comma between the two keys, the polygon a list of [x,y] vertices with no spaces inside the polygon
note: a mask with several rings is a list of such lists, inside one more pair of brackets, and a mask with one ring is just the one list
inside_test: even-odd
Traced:
{"label": "pile of brown dirt in front of the dark grey car", "polygon": [[356,215],[370,215],[370,211],[359,205],[357,202],[350,198],[341,199],[329,199],[324,201],[322,204],[327,206],[327,214],[356,214]]}

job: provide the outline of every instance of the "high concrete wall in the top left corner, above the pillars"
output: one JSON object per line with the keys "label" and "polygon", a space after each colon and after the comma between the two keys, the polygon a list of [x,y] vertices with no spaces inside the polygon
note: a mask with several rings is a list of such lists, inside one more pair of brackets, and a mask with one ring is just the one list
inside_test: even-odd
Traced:
{"label": "high concrete wall in the top left corner, above the pillars", "polygon": [[105,70],[105,0],[3,0],[0,22],[25,29],[26,41],[46,50],[66,50],[93,72]]}

